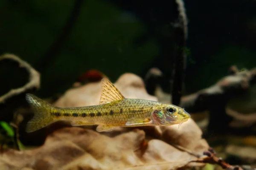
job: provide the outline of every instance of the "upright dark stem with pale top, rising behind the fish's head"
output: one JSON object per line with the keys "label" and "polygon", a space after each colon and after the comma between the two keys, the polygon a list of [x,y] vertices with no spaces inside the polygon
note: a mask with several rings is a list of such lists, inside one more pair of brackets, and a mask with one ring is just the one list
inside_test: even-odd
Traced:
{"label": "upright dark stem with pale top, rising behind the fish's head", "polygon": [[178,8],[178,18],[175,27],[175,52],[172,85],[172,104],[179,105],[183,86],[184,73],[186,68],[186,39],[187,39],[187,20],[183,0],[176,0]]}

